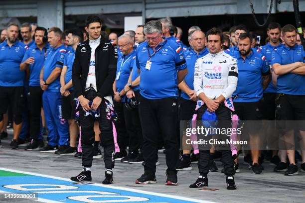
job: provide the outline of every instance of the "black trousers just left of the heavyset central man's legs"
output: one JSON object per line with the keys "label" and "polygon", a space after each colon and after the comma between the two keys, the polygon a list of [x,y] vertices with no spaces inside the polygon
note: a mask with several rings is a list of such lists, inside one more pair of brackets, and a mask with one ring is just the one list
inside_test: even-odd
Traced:
{"label": "black trousers just left of the heavyset central man's legs", "polygon": [[[136,98],[138,102],[140,101],[140,90],[135,92]],[[138,150],[141,149],[143,145],[143,135],[142,135],[142,127],[139,116],[139,108],[134,109],[133,111],[129,111],[124,106],[124,117],[126,130],[129,134],[129,151],[138,153]]]}

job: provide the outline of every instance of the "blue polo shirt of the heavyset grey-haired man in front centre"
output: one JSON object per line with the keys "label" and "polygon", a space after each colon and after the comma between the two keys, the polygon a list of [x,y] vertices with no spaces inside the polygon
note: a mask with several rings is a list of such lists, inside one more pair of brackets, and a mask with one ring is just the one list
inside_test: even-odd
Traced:
{"label": "blue polo shirt of the heavyset grey-haired man in front centre", "polygon": [[[177,72],[186,69],[183,50],[173,41],[165,40],[159,44],[153,54],[148,42],[143,42],[137,48],[136,64],[140,73],[140,94],[150,100],[168,97],[178,97]],[[151,69],[146,69],[149,53],[151,54]]]}

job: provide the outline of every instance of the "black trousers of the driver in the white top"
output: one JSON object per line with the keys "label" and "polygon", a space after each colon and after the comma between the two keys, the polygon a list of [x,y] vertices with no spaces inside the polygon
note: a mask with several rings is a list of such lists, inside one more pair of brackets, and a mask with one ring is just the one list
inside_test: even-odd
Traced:
{"label": "black trousers of the driver in the white top", "polygon": [[[198,109],[197,120],[202,120],[202,114],[207,109],[206,105],[201,106]],[[224,104],[220,104],[218,109],[216,110],[216,115],[218,119],[218,128],[231,128],[232,120],[231,120],[231,110],[224,106]],[[227,135],[219,135],[215,138],[218,140],[225,140]],[[211,139],[211,136],[208,136]],[[205,146],[205,150],[200,150],[199,147],[199,161],[198,161],[198,169],[199,173],[208,174],[209,173],[209,160],[210,160],[210,147],[211,145]],[[215,146],[217,149],[217,146]],[[221,146],[222,149],[219,149],[222,154],[222,163],[224,166],[224,173],[227,176],[232,176],[235,174],[234,169],[234,160],[232,157],[232,152],[229,150],[230,146]]]}

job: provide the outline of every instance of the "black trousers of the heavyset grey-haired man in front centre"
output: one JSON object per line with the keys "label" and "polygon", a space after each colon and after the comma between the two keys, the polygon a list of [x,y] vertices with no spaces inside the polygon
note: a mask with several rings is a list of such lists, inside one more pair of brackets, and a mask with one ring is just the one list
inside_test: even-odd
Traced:
{"label": "black trousers of the heavyset grey-haired man in front centre", "polygon": [[178,103],[176,98],[149,100],[141,97],[140,119],[143,132],[143,157],[145,173],[155,174],[155,162],[158,152],[158,132],[164,140],[166,172],[177,173],[179,147],[177,138]]}

